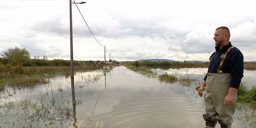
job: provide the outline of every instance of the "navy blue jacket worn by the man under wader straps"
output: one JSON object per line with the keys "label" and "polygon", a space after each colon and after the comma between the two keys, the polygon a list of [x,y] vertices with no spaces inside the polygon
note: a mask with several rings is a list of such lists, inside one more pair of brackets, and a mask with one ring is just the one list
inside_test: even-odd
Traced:
{"label": "navy blue jacket worn by the man under wader straps", "polygon": [[[217,68],[219,67],[221,60],[220,56],[227,52],[230,47],[232,47],[231,42],[229,42],[228,45],[223,46],[221,49],[217,46],[215,47],[216,51],[212,55],[210,65],[208,67],[208,72],[217,73]],[[231,74],[230,87],[238,88],[240,86],[241,79],[244,76],[244,57],[238,48],[234,47],[228,52],[221,70],[223,73]],[[205,81],[206,79],[207,75],[204,77]]]}

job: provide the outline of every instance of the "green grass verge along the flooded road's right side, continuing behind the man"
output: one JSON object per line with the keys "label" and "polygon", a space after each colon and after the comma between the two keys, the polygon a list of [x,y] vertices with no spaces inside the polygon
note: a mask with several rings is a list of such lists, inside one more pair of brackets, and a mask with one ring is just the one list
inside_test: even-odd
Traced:
{"label": "green grass verge along the flooded road's right side, continuing behind the man", "polygon": [[[147,66],[132,66],[125,65],[127,68],[142,73],[142,75],[147,75],[151,77],[158,77],[161,82],[166,83],[175,83],[179,82],[183,86],[190,86],[193,82],[199,82],[198,78],[190,77],[190,76],[180,76],[176,77],[175,75],[169,75],[168,73],[164,73],[162,75],[157,75],[156,72],[152,71],[152,68]],[[156,67],[154,67],[156,68]],[[200,83],[199,83],[200,84]],[[196,86],[195,90],[199,90],[200,86]],[[244,83],[241,83],[238,89],[238,97],[237,97],[237,110],[240,114],[238,114],[238,119],[243,120],[245,123],[255,126],[256,125],[256,88],[252,88],[248,90],[244,86]]]}

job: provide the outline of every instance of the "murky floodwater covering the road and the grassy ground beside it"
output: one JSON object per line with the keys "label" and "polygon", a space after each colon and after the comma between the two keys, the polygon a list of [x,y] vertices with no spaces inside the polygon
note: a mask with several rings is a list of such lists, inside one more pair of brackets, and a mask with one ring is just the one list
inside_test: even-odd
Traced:
{"label": "murky floodwater covering the road and the grassy ground beside it", "polygon": [[[34,88],[6,87],[0,98],[0,127],[164,128],[205,124],[203,100],[196,97],[193,86],[160,82],[123,66],[106,75],[101,70],[78,72],[73,90],[70,77],[59,76]],[[238,119],[232,126],[253,127]]]}

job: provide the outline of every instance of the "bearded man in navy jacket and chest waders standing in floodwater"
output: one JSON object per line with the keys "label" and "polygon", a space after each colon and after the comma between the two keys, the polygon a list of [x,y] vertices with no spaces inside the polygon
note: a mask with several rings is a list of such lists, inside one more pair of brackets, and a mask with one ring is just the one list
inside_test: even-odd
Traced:
{"label": "bearded man in navy jacket and chest waders standing in floodwater", "polygon": [[210,57],[210,65],[199,96],[203,96],[205,86],[205,127],[231,127],[235,112],[237,90],[243,77],[243,54],[229,42],[228,27],[219,27],[214,33],[215,52]]}

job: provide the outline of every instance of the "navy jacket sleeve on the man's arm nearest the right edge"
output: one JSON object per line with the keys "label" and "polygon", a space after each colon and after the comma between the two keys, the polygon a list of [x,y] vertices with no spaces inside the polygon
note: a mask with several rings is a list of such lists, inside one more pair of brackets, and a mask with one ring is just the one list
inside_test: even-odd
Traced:
{"label": "navy jacket sleeve on the man's arm nearest the right edge", "polygon": [[242,52],[237,51],[231,59],[231,82],[230,87],[238,88],[244,73],[244,57]]}

